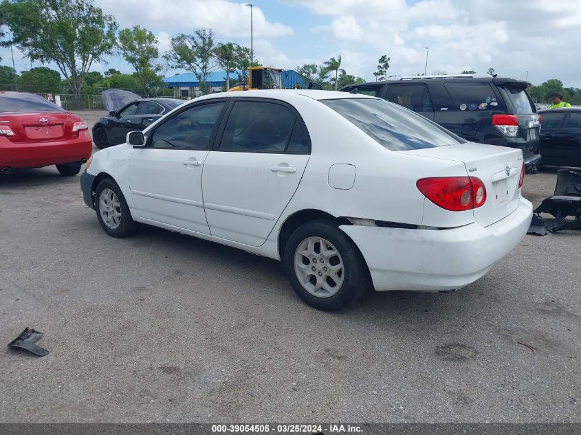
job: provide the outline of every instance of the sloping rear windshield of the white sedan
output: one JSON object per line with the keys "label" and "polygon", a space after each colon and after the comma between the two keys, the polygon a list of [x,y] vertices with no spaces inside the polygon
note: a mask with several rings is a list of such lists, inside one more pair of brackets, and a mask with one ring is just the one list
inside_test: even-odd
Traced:
{"label": "sloping rear windshield of the white sedan", "polygon": [[464,142],[423,116],[385,100],[342,98],[320,102],[358,126],[388,150],[417,150]]}

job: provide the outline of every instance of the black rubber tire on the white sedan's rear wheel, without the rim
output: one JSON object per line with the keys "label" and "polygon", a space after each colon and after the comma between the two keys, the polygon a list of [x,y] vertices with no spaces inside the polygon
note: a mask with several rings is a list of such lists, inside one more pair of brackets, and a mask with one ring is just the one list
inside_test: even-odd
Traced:
{"label": "black rubber tire on the white sedan's rear wheel, without the rim", "polygon": [[[327,295],[327,297],[323,297],[325,296],[325,293],[319,296],[307,291],[307,289],[305,289],[305,287],[300,283],[295,270],[296,251],[300,245],[304,244],[307,239],[311,237],[323,238],[325,241],[328,241],[331,244],[331,248],[338,253],[335,262],[337,263],[339,260],[342,262],[342,282],[340,283],[340,288],[336,290],[333,287],[333,291],[336,291],[336,293]],[[327,246],[327,248],[329,248],[329,246]],[[316,252],[316,243],[314,244],[314,250]],[[319,252],[321,252],[320,243]],[[321,258],[325,258],[322,254],[320,255]],[[331,258],[332,256],[329,257],[327,261],[328,265],[332,264]],[[322,267],[320,259],[318,262],[316,260],[317,258],[309,260],[306,256],[303,256],[303,265],[307,265],[305,261],[309,262],[309,273],[311,267]],[[313,261],[317,264],[312,263]],[[310,306],[322,311],[337,311],[343,309],[361,298],[361,296],[371,287],[369,269],[363,256],[359,252],[359,249],[347,234],[342,232],[337,225],[330,220],[320,219],[310,221],[300,225],[300,227],[294,230],[285,245],[284,267],[296,294]],[[325,269],[325,271],[326,270],[327,269]],[[320,272],[325,274],[322,270]],[[319,272],[317,272],[317,274],[319,274]],[[325,277],[325,275],[323,277]],[[313,274],[309,279],[316,280],[317,277]],[[326,280],[327,278],[323,279]],[[332,279],[331,282],[333,282]],[[316,287],[316,284],[312,281],[311,284]],[[324,291],[323,289],[311,290],[314,290],[315,293],[318,291]]]}

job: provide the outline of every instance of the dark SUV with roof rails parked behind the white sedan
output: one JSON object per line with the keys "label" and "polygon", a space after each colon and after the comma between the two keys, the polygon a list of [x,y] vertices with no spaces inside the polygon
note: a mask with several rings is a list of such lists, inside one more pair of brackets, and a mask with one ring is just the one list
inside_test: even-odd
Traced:
{"label": "dark SUV with roof rails parked behind the white sedan", "polygon": [[534,173],[540,164],[540,122],[526,91],[529,85],[489,74],[460,74],[357,83],[340,91],[395,102],[470,142],[520,148],[525,170]]}

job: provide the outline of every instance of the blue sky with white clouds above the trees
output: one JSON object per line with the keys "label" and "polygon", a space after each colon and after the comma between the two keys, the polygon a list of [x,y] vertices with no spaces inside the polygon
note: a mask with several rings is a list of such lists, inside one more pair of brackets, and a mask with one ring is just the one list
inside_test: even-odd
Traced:
{"label": "blue sky with white clouds above the trees", "polygon": [[[121,27],[154,32],[160,51],[171,36],[212,28],[219,41],[250,46],[248,1],[95,0]],[[525,78],[559,78],[581,88],[581,0],[254,0],[254,54],[264,65],[291,69],[342,56],[349,74],[373,80],[377,60],[391,57],[388,74],[462,69]],[[1,49],[3,65],[10,50]],[[17,70],[30,62],[15,52]],[[109,67],[131,72],[119,58]],[[38,66],[38,65],[36,65]],[[169,70],[168,75],[175,74]]]}

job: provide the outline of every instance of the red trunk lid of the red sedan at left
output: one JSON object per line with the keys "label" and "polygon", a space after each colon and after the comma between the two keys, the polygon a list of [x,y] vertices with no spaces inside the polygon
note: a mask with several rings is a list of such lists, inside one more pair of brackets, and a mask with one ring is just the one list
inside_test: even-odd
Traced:
{"label": "red trunk lid of the red sedan at left", "polygon": [[0,122],[10,126],[11,142],[39,143],[73,138],[73,124],[82,119],[69,112],[2,113]]}

